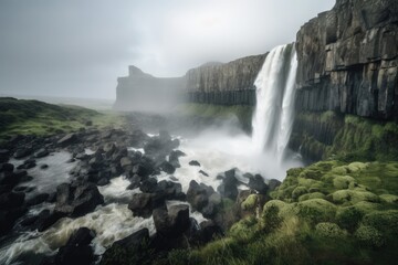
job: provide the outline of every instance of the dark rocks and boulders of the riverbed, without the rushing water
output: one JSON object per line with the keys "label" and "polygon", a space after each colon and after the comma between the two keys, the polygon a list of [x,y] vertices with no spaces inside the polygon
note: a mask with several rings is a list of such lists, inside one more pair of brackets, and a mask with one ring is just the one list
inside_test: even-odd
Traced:
{"label": "dark rocks and boulders of the riverbed, without the rushing water", "polygon": [[[146,252],[150,250],[165,256],[170,250],[203,245],[222,236],[247,214],[241,202],[252,193],[259,194],[265,202],[269,200],[266,192],[280,184],[273,180],[268,186],[261,176],[245,173],[248,181],[243,184],[247,190],[240,191],[238,186],[242,182],[235,177],[235,169],[231,169],[217,176],[221,181],[217,191],[191,180],[187,193],[184,193],[178,179],[172,177],[176,168],[180,167],[179,158],[186,156],[178,147],[179,140],[164,130],[151,137],[140,129],[92,128],[50,137],[12,137],[0,150],[1,236],[7,239],[17,224],[20,231],[43,232],[63,218],[75,219],[91,213],[105,204],[98,187],[125,176],[130,183],[127,189],[137,189],[128,209],[134,216],[153,218],[156,233],[149,236],[148,230],[142,229],[114,242],[104,253],[101,264],[114,264],[117,258],[127,261],[130,254],[118,257],[115,253],[143,247],[143,242],[146,242]],[[54,192],[36,193],[27,199],[35,188],[24,183],[40,178],[29,176],[30,169],[50,170],[40,159],[60,151],[71,153],[71,159],[66,161],[73,163],[69,182],[59,184]],[[19,161],[20,165],[15,167],[10,161]],[[192,160],[189,165],[198,168],[202,176],[208,176],[200,169],[200,161]],[[160,173],[170,174],[170,180],[158,181]],[[167,206],[167,201],[180,203]],[[29,209],[40,203],[53,206],[27,216]],[[198,223],[190,216],[191,211],[200,212],[206,221]],[[98,261],[90,245],[94,237],[95,231],[81,227],[55,256],[43,258],[41,264],[94,263]],[[76,256],[82,256],[82,259],[76,261]]]}

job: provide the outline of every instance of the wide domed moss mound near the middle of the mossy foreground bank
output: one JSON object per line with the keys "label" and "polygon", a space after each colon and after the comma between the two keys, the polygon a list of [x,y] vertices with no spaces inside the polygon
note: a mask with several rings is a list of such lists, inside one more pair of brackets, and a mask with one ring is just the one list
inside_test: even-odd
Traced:
{"label": "wide domed moss mound near the middle of the mossy foreground bank", "polygon": [[333,222],[336,210],[336,205],[323,199],[302,201],[295,206],[295,212],[298,216],[314,224],[320,222]]}

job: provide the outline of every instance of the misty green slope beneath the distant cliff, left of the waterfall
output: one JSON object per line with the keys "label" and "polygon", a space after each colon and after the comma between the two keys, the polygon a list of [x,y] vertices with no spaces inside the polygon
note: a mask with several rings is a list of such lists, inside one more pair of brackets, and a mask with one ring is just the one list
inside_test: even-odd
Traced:
{"label": "misty green slope beneath the distant cliff, left of the waterfall", "polygon": [[253,106],[233,105],[212,105],[212,104],[181,104],[176,107],[176,110],[180,114],[210,118],[210,119],[238,119],[242,128],[247,131],[251,131],[251,120],[253,116]]}

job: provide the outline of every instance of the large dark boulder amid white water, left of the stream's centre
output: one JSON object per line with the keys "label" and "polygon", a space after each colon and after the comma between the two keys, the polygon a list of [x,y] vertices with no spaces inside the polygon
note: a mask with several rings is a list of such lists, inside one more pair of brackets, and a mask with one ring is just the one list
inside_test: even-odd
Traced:
{"label": "large dark boulder amid white water, left of the stream's centre", "polygon": [[63,183],[56,188],[55,212],[81,216],[92,212],[97,205],[104,203],[104,198],[98,188],[93,183],[74,182]]}

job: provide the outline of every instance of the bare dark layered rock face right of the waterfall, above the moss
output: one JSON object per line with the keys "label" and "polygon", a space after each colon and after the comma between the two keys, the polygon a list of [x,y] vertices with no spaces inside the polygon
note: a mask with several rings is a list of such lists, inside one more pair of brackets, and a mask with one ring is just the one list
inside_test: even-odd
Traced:
{"label": "bare dark layered rock face right of the waterfall, above the moss", "polygon": [[337,0],[297,33],[300,110],[398,114],[398,2]]}

